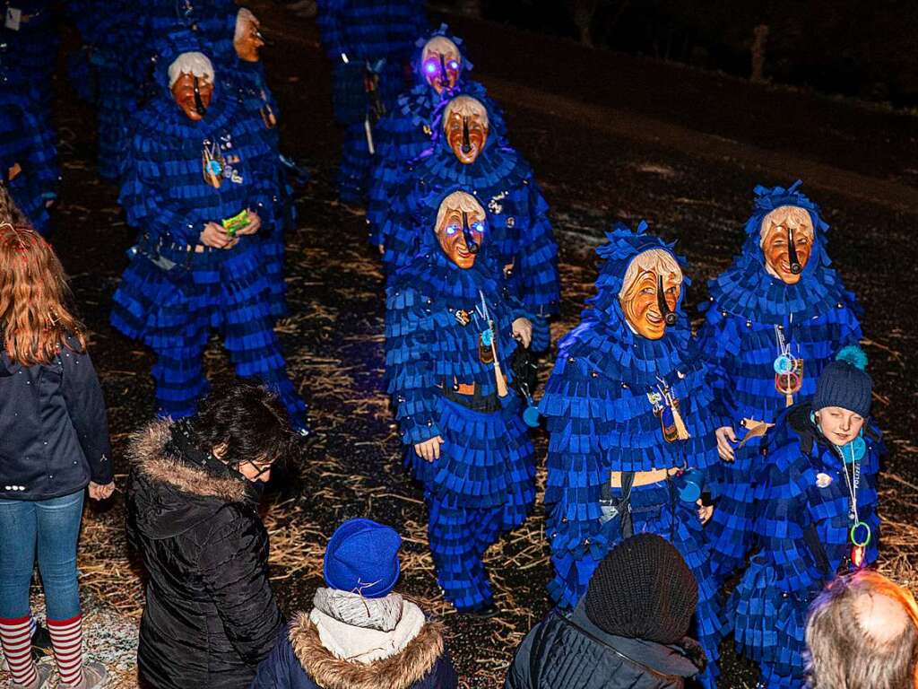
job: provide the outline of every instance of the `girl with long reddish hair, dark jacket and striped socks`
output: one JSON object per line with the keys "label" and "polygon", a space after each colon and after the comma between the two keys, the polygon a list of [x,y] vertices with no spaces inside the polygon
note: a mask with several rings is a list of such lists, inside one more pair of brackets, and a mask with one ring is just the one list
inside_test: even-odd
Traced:
{"label": "girl with long reddish hair, dark jacket and striped socks", "polygon": [[61,262],[17,220],[0,216],[0,644],[11,686],[50,685],[29,639],[37,556],[58,685],[91,689],[106,670],[83,661],[76,545],[84,490],[115,488],[105,401]]}

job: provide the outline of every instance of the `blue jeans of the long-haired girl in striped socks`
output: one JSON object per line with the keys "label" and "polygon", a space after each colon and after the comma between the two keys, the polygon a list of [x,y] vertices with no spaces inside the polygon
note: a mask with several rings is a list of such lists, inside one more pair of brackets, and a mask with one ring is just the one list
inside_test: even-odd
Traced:
{"label": "blue jeans of the long-haired girl in striped socks", "polygon": [[0,500],[0,617],[29,614],[28,584],[38,550],[48,618],[80,614],[76,543],[84,491],[50,500]]}

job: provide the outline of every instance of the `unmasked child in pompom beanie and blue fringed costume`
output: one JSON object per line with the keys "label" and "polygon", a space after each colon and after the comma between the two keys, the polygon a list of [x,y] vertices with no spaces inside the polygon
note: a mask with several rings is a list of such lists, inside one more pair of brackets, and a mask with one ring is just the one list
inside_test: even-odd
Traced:
{"label": "unmasked child in pompom beanie and blue fringed costume", "polygon": [[847,346],[812,401],[778,417],[756,475],[758,552],[728,604],[736,646],[758,661],[756,686],[802,688],[808,608],[838,573],[877,559],[877,472],[867,356]]}

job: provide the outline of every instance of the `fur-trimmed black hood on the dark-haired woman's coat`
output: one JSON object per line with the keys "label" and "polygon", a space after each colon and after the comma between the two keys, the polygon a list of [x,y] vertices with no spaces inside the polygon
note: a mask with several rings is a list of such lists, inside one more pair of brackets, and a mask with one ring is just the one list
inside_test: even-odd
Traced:
{"label": "fur-trimmed black hood on the dark-haired woman's coat", "polygon": [[129,497],[137,526],[151,538],[174,537],[209,519],[227,503],[253,503],[244,479],[215,476],[170,454],[173,423],[154,421],[134,435]]}

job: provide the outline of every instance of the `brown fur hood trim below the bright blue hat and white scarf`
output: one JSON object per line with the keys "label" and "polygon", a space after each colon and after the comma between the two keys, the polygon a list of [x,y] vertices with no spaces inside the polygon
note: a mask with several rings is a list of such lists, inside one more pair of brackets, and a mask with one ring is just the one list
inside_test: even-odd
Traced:
{"label": "brown fur hood trim below the bright blue hat and white scarf", "polygon": [[323,689],[409,689],[436,667],[444,653],[442,625],[431,622],[400,653],[369,665],[335,658],[305,613],[290,624],[289,638],[297,661]]}

